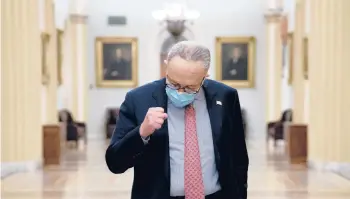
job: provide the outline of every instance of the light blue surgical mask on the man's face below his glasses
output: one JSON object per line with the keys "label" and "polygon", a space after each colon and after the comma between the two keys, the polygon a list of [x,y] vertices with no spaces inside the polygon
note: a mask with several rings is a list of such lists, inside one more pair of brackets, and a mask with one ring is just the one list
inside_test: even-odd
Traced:
{"label": "light blue surgical mask on the man's face below his glasses", "polygon": [[171,103],[177,108],[183,108],[194,101],[195,93],[179,93],[177,90],[166,87],[165,92]]}

